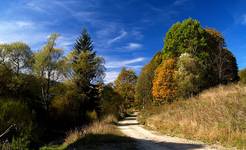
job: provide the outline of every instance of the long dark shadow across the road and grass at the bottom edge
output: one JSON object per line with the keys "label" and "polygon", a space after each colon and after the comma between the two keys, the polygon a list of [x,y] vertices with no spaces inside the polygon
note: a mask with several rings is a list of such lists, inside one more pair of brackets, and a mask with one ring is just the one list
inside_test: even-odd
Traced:
{"label": "long dark shadow across the road and grass at the bottom edge", "polygon": [[78,150],[193,150],[201,149],[203,145],[200,144],[182,144],[171,142],[155,142],[151,140],[133,139],[126,136],[118,136],[113,134],[91,134],[78,140],[76,143],[70,145],[68,149]]}

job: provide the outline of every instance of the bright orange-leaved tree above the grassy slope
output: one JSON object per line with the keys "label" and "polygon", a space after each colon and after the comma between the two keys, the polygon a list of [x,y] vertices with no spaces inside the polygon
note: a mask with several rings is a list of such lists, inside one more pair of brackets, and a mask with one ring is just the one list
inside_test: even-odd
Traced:
{"label": "bright orange-leaved tree above the grassy slope", "polygon": [[156,69],[153,80],[152,95],[157,103],[172,102],[176,97],[175,60],[170,58]]}

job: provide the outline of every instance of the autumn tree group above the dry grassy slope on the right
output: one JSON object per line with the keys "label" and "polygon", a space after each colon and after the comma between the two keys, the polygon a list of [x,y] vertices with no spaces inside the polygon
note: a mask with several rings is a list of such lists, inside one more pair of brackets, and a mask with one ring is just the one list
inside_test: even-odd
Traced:
{"label": "autumn tree group above the dry grassy slope on the right", "polygon": [[[122,78],[127,72],[128,77]],[[115,86],[121,89],[121,95],[128,95],[127,99],[131,95],[141,108],[187,99],[210,87],[239,81],[236,58],[222,34],[203,28],[191,18],[172,25],[163,49],[142,68],[137,79],[131,80],[130,72],[122,69]],[[240,72],[241,76],[244,72]],[[125,88],[128,84],[132,87]]]}

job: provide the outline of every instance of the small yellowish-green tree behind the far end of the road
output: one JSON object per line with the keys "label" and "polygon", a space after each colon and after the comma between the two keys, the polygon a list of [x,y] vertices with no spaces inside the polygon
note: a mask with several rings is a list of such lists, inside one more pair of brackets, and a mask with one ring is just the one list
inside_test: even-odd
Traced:
{"label": "small yellowish-green tree behind the far end of the road", "polygon": [[122,68],[120,74],[115,80],[115,90],[122,96],[124,99],[124,108],[130,108],[135,105],[135,86],[137,83],[136,73],[125,67]]}

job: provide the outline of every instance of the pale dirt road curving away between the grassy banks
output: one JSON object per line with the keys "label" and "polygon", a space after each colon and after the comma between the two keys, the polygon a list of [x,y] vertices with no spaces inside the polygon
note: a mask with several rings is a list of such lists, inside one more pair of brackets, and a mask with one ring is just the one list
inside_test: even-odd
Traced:
{"label": "pale dirt road curving away between the grassy banks", "polygon": [[136,120],[136,115],[126,117],[119,122],[118,128],[126,136],[136,140],[139,150],[212,150],[222,149],[218,146],[208,146],[202,142],[160,135],[157,132],[147,130]]}

